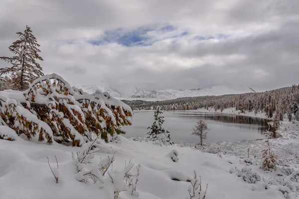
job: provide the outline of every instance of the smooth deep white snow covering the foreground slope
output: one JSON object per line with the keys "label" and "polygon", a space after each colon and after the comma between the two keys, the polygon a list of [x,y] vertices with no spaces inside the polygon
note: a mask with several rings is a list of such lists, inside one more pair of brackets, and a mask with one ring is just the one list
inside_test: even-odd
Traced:
{"label": "smooth deep white snow covering the foreground slope", "polygon": [[[286,195],[295,199],[294,190],[292,192],[287,186],[268,183],[269,179],[276,177],[276,172],[267,173],[257,165],[250,166],[251,169],[245,173],[247,176],[251,172],[259,174],[262,179],[258,179],[260,181],[257,184],[249,184],[243,178],[230,174],[231,168],[242,170],[247,167],[240,162],[239,157],[223,155],[220,158],[216,154],[203,153],[189,147],[157,146],[124,137],[118,143],[106,144],[99,140],[96,146],[99,148],[99,151],[93,153],[93,162],[96,164],[101,160],[105,162],[114,153],[113,170],[122,172],[130,160],[130,164],[141,164],[136,190],[139,197],[131,196],[129,190],[121,192],[119,199],[184,199],[188,196],[190,185],[186,181],[192,179],[193,170],[198,178],[200,176],[203,190],[208,184],[206,199],[284,199],[282,191],[289,192]],[[112,199],[110,187],[99,189],[76,180],[72,160],[72,152],[76,151],[77,147],[57,143],[43,145],[22,139],[12,142],[0,140],[0,160],[5,160],[0,161],[0,198]],[[168,154],[173,152],[177,154],[178,162],[169,158]],[[57,184],[47,163],[48,157],[51,167],[55,168],[55,156],[60,175]],[[290,182],[291,178],[297,178],[296,173],[293,176],[288,177]],[[296,185],[297,182],[293,180],[292,183]]]}

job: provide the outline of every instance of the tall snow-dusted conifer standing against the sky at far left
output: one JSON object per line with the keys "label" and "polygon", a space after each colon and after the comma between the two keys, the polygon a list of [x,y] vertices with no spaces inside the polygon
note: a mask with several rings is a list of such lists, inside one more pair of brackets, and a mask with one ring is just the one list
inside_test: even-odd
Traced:
{"label": "tall snow-dusted conifer standing against the sky at far left", "polygon": [[29,88],[29,85],[37,78],[43,76],[42,68],[35,61],[43,60],[38,53],[40,46],[36,38],[32,34],[32,30],[26,25],[26,29],[23,32],[16,33],[19,39],[12,43],[8,47],[9,51],[14,54],[12,57],[0,57],[12,65],[12,67],[6,67],[0,69],[0,75],[10,74],[11,86],[13,90],[24,91]]}

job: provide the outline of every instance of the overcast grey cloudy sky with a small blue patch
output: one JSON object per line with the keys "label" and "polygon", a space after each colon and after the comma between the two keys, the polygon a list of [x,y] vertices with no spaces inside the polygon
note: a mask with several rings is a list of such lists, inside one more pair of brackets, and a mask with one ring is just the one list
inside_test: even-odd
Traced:
{"label": "overcast grey cloudy sky with a small blue patch", "polygon": [[0,56],[26,24],[73,85],[299,84],[299,0],[0,0]]}

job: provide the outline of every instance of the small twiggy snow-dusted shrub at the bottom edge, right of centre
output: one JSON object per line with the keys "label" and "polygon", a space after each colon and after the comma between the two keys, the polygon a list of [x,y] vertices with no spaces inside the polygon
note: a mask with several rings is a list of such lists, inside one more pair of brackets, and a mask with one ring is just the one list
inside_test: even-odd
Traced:
{"label": "small twiggy snow-dusted shrub at the bottom edge, right of centre", "polygon": [[203,192],[203,190],[201,188],[201,178],[200,178],[200,176],[199,176],[199,179],[197,178],[195,171],[194,171],[194,177],[190,183],[191,183],[191,185],[189,185],[189,187],[188,187],[189,196],[187,196],[186,199],[205,199],[207,189],[208,189],[208,184],[207,184],[205,192]]}

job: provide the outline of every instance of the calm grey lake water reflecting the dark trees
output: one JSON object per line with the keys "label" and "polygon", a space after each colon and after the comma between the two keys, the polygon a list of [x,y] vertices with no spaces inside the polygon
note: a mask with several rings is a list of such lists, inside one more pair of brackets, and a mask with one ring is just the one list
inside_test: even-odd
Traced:
{"label": "calm grey lake water reflecting the dark trees", "polygon": [[[127,131],[127,138],[144,137],[147,128],[153,123],[153,111],[134,112],[132,126],[122,129]],[[266,119],[240,115],[203,112],[164,111],[164,128],[170,131],[174,142],[195,143],[199,137],[191,135],[198,119],[203,119],[210,129],[204,142],[242,141],[265,138],[263,132],[268,129]]]}

